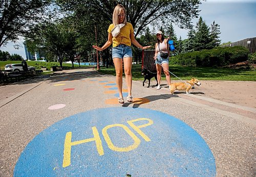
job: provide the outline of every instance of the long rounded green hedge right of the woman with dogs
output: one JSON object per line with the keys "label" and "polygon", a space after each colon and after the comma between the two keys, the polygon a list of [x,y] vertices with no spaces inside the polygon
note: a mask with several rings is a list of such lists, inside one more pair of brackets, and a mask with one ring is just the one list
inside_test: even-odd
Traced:
{"label": "long rounded green hedge right of the woman with dogs", "polygon": [[225,66],[248,60],[249,50],[242,46],[216,47],[170,57],[170,64],[186,66]]}

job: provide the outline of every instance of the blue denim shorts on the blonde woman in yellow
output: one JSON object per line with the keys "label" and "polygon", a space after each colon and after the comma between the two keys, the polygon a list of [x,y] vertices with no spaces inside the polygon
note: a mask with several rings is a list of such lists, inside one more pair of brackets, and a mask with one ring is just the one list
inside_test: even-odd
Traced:
{"label": "blue denim shorts on the blonde woman in yellow", "polygon": [[123,59],[125,57],[133,57],[132,48],[125,44],[119,44],[112,49],[112,58]]}

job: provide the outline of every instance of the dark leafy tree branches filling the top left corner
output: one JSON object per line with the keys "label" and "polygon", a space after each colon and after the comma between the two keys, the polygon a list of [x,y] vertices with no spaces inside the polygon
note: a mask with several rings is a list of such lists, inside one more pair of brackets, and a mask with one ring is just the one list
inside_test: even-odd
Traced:
{"label": "dark leafy tree branches filling the top left corner", "polygon": [[45,20],[51,0],[0,1],[0,47],[8,41],[15,42],[28,29]]}

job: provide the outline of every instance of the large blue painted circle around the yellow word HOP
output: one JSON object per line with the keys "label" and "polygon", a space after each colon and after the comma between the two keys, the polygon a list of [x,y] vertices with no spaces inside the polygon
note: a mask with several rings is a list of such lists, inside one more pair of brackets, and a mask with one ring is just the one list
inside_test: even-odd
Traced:
{"label": "large blue painted circle around the yellow word HOP", "polygon": [[[145,141],[127,123],[149,118],[153,124],[140,130],[151,139]],[[148,123],[134,122],[136,126]],[[118,152],[111,150],[102,129],[123,124],[139,139],[137,148]],[[67,132],[72,142],[93,138],[96,127],[104,150],[99,156],[95,141],[71,146],[71,164],[62,167]],[[120,127],[108,129],[112,143],[127,147],[134,140]],[[102,108],[76,114],[54,123],[39,133],[20,155],[14,176],[215,176],[212,153],[202,137],[183,121],[168,114],[144,108]]]}

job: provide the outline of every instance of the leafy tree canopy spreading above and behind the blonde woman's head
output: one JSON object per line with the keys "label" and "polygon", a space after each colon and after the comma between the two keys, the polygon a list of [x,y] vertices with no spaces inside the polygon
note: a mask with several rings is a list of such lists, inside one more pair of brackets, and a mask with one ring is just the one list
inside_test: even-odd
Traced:
{"label": "leafy tree canopy spreading above and behind the blonde woman's head", "polygon": [[198,16],[201,4],[200,0],[57,0],[58,5],[70,13],[79,13],[79,16],[97,16],[97,21],[107,20],[112,23],[112,13],[117,4],[124,5],[127,11],[127,21],[131,22],[135,28],[135,37],[148,26],[148,24],[158,24],[167,21],[175,21],[180,28],[191,28],[191,19]]}

